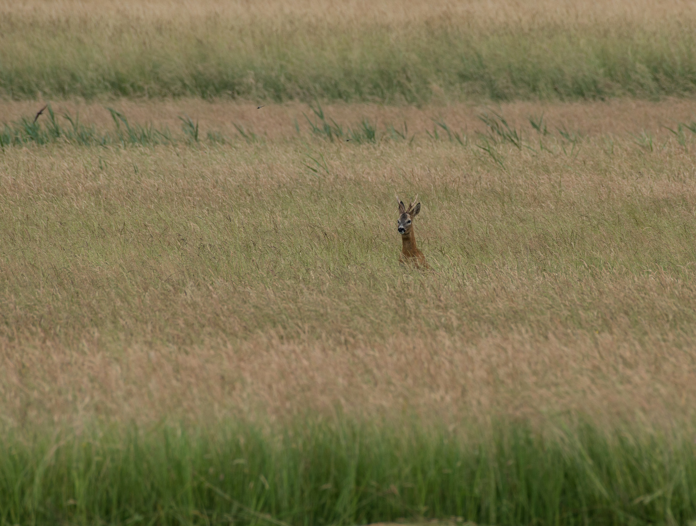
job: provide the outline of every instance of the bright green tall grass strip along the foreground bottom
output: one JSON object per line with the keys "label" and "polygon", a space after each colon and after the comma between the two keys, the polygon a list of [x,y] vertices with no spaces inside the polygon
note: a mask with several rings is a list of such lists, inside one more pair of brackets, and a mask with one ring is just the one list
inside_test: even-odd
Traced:
{"label": "bright green tall grass strip along the foreground bottom", "polygon": [[[670,433],[297,422],[3,433],[0,524],[693,525],[696,451]],[[451,429],[451,428],[450,428]],[[460,430],[461,431],[461,430]]]}

